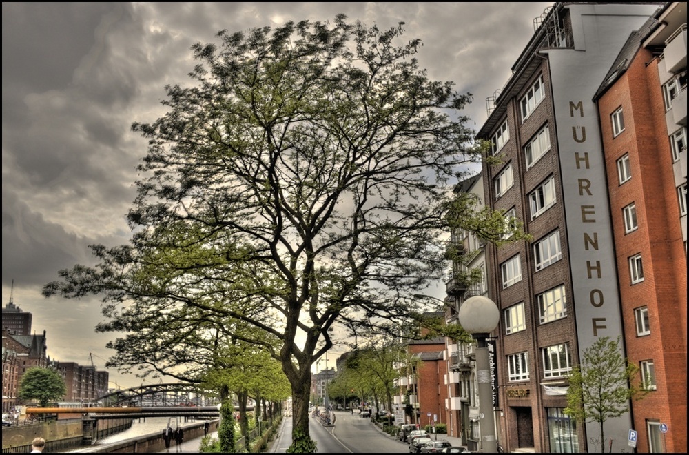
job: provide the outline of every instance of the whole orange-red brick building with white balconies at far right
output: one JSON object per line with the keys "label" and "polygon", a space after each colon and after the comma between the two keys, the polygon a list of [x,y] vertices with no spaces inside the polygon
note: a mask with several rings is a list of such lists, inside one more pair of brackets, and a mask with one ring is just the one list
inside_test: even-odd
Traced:
{"label": "whole orange-red brick building with white balconies at far right", "polygon": [[632,403],[639,452],[687,449],[686,18],[686,3],[650,17],[595,97],[626,353],[650,390]]}

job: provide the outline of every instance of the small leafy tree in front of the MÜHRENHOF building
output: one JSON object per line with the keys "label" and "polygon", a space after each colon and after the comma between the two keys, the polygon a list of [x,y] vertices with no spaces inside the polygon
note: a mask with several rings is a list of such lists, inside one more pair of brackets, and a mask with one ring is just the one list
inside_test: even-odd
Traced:
{"label": "small leafy tree in front of the M\u00dcHRENHOF building", "polygon": [[633,385],[639,368],[622,356],[619,341],[619,336],[616,340],[598,338],[568,375],[564,413],[579,423],[599,424],[601,453],[605,452],[605,421],[627,412],[630,399],[638,400],[648,393],[643,384]]}

